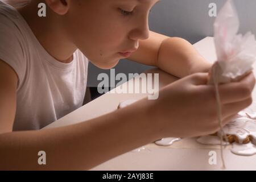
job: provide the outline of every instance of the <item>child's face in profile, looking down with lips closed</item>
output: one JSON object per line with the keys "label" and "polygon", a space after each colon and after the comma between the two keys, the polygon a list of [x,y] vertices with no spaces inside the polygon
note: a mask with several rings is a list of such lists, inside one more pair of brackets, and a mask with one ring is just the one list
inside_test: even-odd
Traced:
{"label": "child's face in profile, looking down with lips closed", "polygon": [[148,13],[156,2],[158,0],[71,1],[65,15],[65,30],[94,65],[109,69],[125,58],[118,52],[135,51],[138,41],[148,38]]}

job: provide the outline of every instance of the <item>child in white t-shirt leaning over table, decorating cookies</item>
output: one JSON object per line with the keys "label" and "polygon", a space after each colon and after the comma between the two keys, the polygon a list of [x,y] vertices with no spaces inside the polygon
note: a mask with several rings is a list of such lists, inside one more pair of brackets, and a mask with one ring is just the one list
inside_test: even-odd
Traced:
{"label": "child in white t-shirt leaning over table, decorating cookies", "polygon": [[[90,169],[160,138],[219,129],[214,88],[206,85],[211,64],[187,41],[148,30],[158,0],[45,0],[45,18],[40,2],[17,10],[0,4],[0,169]],[[109,69],[125,57],[181,79],[158,100],[39,130],[81,106],[88,60]],[[250,73],[219,86],[224,124],[251,104],[254,84]],[[38,164],[41,150],[47,165]]]}

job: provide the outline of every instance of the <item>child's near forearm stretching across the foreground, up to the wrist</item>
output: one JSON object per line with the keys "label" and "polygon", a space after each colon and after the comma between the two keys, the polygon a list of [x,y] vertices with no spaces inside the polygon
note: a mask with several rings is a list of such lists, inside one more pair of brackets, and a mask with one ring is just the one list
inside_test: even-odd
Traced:
{"label": "child's near forearm stretching across the foreground, up to the wrist", "polygon": [[[1,134],[0,169],[90,169],[158,139],[146,112],[144,99],[76,125]],[[38,164],[39,151],[46,165]]]}

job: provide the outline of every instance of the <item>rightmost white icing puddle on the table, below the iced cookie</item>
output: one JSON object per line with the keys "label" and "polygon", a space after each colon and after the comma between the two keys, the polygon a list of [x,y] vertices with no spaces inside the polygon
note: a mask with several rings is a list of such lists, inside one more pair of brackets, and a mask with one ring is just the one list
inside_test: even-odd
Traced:
{"label": "rightmost white icing puddle on the table, below the iced cookie", "polygon": [[251,142],[247,144],[234,142],[231,151],[233,154],[249,156],[256,154],[256,146]]}

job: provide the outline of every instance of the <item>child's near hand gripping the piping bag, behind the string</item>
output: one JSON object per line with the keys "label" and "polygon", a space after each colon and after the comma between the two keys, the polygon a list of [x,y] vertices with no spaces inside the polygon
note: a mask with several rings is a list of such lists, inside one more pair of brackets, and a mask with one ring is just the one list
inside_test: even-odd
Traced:
{"label": "child's near hand gripping the piping bag, behind the string", "polygon": [[[196,137],[220,129],[215,89],[207,80],[208,73],[194,73],[162,88],[158,100],[148,101],[150,122],[159,138]],[[251,72],[240,81],[218,86],[223,125],[251,105],[254,85]]]}

